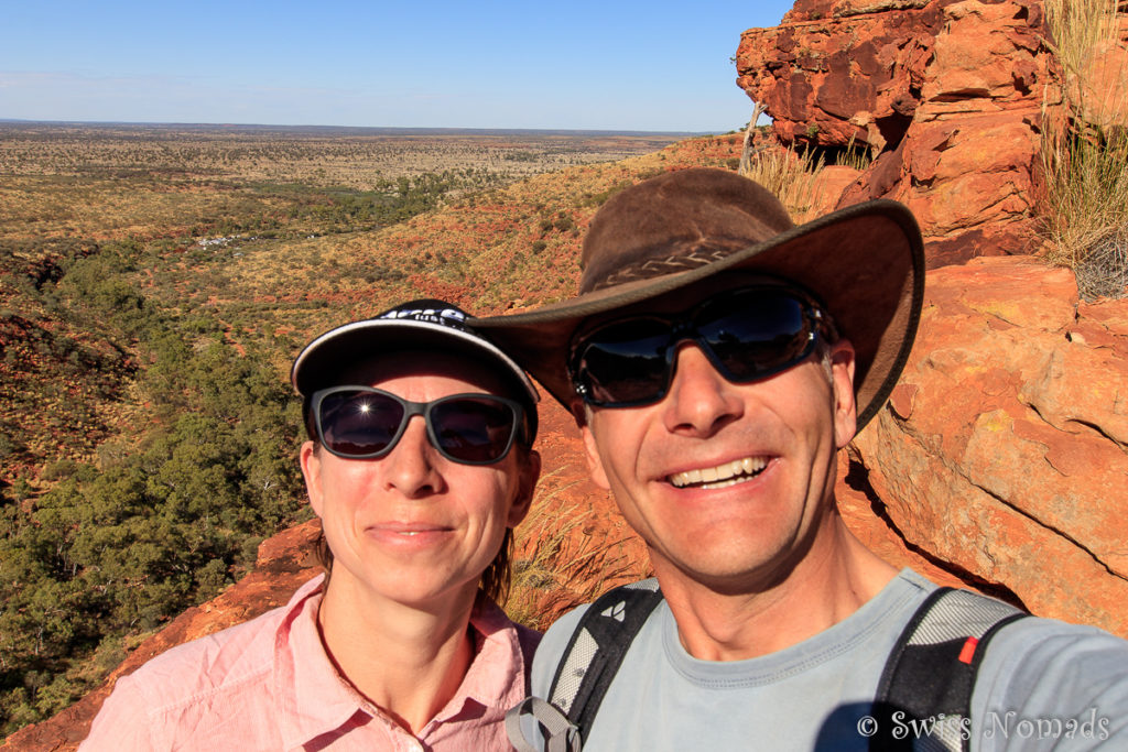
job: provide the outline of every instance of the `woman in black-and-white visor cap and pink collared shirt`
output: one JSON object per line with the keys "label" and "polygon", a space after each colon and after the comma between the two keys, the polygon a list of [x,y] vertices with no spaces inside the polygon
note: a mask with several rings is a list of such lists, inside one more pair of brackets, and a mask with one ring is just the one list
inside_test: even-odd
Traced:
{"label": "woman in black-and-white visor cap and pink collared shirt", "polygon": [[496,605],[537,393],[442,301],[311,342],[291,379],[327,575],[118,680],[83,750],[509,749],[539,638]]}

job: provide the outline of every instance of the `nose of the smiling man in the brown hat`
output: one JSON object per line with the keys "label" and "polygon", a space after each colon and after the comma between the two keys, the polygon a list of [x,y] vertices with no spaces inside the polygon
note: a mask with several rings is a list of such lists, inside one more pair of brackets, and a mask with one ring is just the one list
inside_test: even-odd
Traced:
{"label": "nose of the smiling man in the brown hat", "polygon": [[744,404],[734,384],[713,368],[696,344],[679,346],[670,391],[663,400],[670,433],[710,436],[743,415]]}

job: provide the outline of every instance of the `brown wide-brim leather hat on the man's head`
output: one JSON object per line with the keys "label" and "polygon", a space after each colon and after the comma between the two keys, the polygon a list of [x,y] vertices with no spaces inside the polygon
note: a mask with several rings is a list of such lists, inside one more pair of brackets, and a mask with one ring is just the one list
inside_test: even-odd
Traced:
{"label": "brown wide-brim leather hat on the man's head", "polygon": [[729,271],[782,277],[810,291],[854,345],[857,427],[889,397],[913,347],[924,299],[924,244],[895,201],[855,204],[795,225],[759,184],[720,169],[667,172],[611,197],[583,242],[580,294],[470,324],[565,407],[571,339],[584,320],[680,291]]}

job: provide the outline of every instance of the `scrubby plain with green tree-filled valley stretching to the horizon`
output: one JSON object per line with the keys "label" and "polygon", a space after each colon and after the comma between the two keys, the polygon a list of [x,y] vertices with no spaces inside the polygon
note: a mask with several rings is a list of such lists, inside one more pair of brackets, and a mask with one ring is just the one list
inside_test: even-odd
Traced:
{"label": "scrubby plain with green tree-filled valley stretching to the horizon", "polygon": [[[566,297],[608,196],[740,142],[0,122],[0,734],[308,519],[287,371],[309,337],[408,298]],[[634,573],[540,537],[510,602],[530,623],[588,595],[557,559]]]}

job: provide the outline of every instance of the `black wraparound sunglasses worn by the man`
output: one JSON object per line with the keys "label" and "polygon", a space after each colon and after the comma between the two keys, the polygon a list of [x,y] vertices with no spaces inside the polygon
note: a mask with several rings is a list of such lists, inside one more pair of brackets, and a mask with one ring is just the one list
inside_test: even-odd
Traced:
{"label": "black wraparound sunglasses worn by the man", "polygon": [[739,287],[678,316],[634,316],[581,331],[572,340],[569,374],[589,405],[649,405],[669,391],[681,342],[694,342],[729,381],[748,383],[805,359],[820,331],[837,338],[805,293]]}

